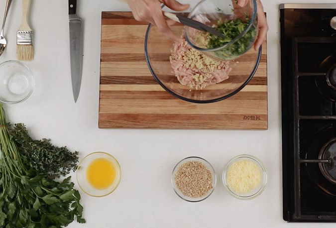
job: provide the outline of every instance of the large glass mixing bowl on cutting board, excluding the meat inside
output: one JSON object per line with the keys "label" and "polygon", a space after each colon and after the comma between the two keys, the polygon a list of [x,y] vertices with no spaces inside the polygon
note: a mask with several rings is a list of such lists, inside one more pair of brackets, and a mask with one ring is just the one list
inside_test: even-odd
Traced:
{"label": "large glass mixing bowl on cutting board, excluding the meat inside", "polygon": [[[184,30],[181,24],[175,24],[171,28],[177,36],[181,36]],[[231,71],[228,79],[203,89],[195,89],[183,86],[175,76],[170,63],[173,44],[174,41],[162,34],[156,26],[149,24],[145,36],[148,68],[155,80],[168,93],[193,103],[218,102],[238,93],[253,77],[261,57],[261,47],[259,50],[250,48],[244,55],[230,60]]]}

